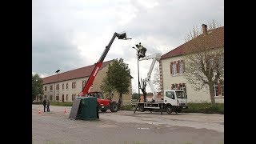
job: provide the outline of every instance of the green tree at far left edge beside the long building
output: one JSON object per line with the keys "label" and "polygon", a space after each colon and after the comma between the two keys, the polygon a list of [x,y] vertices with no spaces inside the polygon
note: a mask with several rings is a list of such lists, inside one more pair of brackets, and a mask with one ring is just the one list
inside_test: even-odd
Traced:
{"label": "green tree at far left edge beside the long building", "polygon": [[32,102],[43,94],[42,78],[38,74],[32,74]]}

